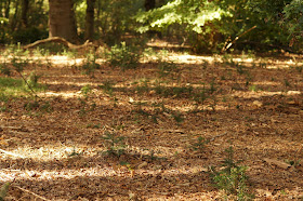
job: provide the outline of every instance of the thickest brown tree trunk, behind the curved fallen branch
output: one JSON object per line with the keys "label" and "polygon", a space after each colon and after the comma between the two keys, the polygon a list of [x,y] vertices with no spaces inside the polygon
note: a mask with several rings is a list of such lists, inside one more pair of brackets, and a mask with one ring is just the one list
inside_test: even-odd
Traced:
{"label": "thickest brown tree trunk, behind the curved fallen branch", "polygon": [[49,37],[62,37],[78,42],[73,0],[49,0]]}

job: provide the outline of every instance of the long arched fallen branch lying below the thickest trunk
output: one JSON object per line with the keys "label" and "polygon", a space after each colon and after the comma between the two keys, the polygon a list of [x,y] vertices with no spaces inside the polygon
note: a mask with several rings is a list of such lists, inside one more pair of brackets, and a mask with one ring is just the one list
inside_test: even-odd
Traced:
{"label": "long arched fallen branch lying below the thickest trunk", "polygon": [[77,44],[73,44],[73,43],[68,42],[64,38],[51,37],[51,38],[38,40],[38,41],[34,42],[34,43],[27,44],[27,45],[23,46],[23,49],[31,49],[31,48],[35,48],[35,46],[37,46],[39,44],[43,44],[43,43],[48,43],[48,42],[57,42],[57,43],[61,43],[61,44],[65,45],[68,49],[74,49],[74,50],[84,49],[84,48],[88,48],[88,46],[96,48],[96,45],[94,45],[93,43],[91,43],[89,41],[85,41],[83,44],[77,45]]}

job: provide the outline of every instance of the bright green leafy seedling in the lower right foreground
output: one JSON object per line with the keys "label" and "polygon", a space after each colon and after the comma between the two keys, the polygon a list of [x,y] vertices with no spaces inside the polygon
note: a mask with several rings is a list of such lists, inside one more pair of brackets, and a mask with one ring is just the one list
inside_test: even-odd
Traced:
{"label": "bright green leafy seedling in the lower right foreground", "polygon": [[237,200],[251,200],[252,195],[249,193],[247,186],[248,176],[246,174],[247,166],[240,166],[240,161],[234,161],[234,150],[230,146],[225,149],[227,157],[225,158],[221,171],[216,171],[214,166],[210,168],[212,183],[225,191],[227,196],[234,195]]}

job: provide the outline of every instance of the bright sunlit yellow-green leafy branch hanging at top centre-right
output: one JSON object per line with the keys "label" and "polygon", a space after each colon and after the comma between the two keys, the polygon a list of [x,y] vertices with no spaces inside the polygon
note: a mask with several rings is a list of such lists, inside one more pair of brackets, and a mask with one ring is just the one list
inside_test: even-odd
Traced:
{"label": "bright sunlit yellow-green leafy branch hanging at top centre-right", "polygon": [[[173,24],[185,24],[186,29],[201,34],[203,32],[202,27],[207,23],[220,19],[223,14],[227,13],[216,6],[213,1],[172,0],[159,9],[139,12],[136,19],[143,24],[139,28],[140,32],[168,27]],[[146,25],[146,23],[148,24]]]}

